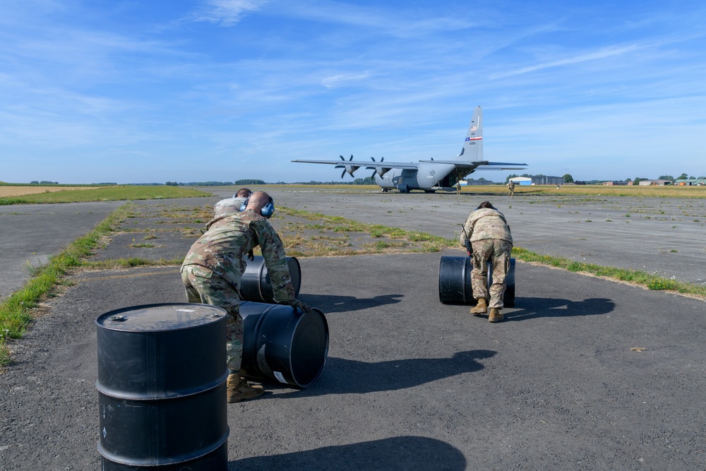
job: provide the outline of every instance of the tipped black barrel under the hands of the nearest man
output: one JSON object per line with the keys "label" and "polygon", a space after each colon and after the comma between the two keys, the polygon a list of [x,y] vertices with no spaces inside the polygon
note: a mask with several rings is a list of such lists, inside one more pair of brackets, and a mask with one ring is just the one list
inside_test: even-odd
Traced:
{"label": "tipped black barrel under the hands of the nearest man", "polygon": [[241,302],[244,374],[309,388],[328,355],[328,323],[321,311],[307,314],[284,304]]}

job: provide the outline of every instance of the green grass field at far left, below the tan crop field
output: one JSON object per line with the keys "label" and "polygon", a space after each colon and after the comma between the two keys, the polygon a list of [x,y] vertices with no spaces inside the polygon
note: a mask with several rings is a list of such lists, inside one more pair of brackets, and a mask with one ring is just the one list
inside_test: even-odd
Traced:
{"label": "green grass field at far left, below the tan crop field", "polygon": [[213,196],[203,191],[183,186],[126,185],[109,186],[90,190],[52,191],[31,195],[0,198],[0,205],[35,203],[80,203],[86,201],[136,201],[166,198],[196,198]]}

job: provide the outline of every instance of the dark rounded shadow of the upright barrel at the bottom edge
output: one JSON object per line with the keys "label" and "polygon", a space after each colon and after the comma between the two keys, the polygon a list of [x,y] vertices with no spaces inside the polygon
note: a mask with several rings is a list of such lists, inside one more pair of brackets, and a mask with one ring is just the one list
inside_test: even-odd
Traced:
{"label": "dark rounded shadow of the upright barrel at the bottom edge", "polygon": [[228,469],[462,471],[466,469],[466,459],[457,448],[444,441],[423,436],[396,436],[352,445],[233,460],[228,463]]}

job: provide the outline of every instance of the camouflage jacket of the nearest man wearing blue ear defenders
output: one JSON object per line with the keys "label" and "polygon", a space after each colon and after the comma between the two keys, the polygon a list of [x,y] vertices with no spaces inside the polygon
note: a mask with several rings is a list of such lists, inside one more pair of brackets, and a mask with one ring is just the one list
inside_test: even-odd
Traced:
{"label": "camouflage jacket of the nearest man wearing blue ear defenders", "polygon": [[285,247],[265,217],[253,210],[245,210],[214,217],[206,227],[208,230],[193,243],[189,254],[186,254],[182,268],[187,265],[204,266],[240,290],[246,255],[259,245],[272,280],[275,302],[294,299]]}

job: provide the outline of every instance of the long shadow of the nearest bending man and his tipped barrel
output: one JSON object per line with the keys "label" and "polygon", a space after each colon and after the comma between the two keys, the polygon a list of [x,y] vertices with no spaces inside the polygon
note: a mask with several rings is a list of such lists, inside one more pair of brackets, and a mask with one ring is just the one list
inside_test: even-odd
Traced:
{"label": "long shadow of the nearest bending man and his tipped barrel", "polygon": [[[412,358],[388,362],[358,362],[357,360],[328,357],[324,374],[313,388],[276,395],[263,399],[301,398],[325,394],[365,394],[378,391],[413,388],[441,378],[472,373],[484,368],[479,359],[493,357],[491,350],[457,352],[450,358]],[[365,381],[361,381],[365,378]],[[281,386],[281,385],[280,385]],[[268,389],[277,385],[268,383]]]}

